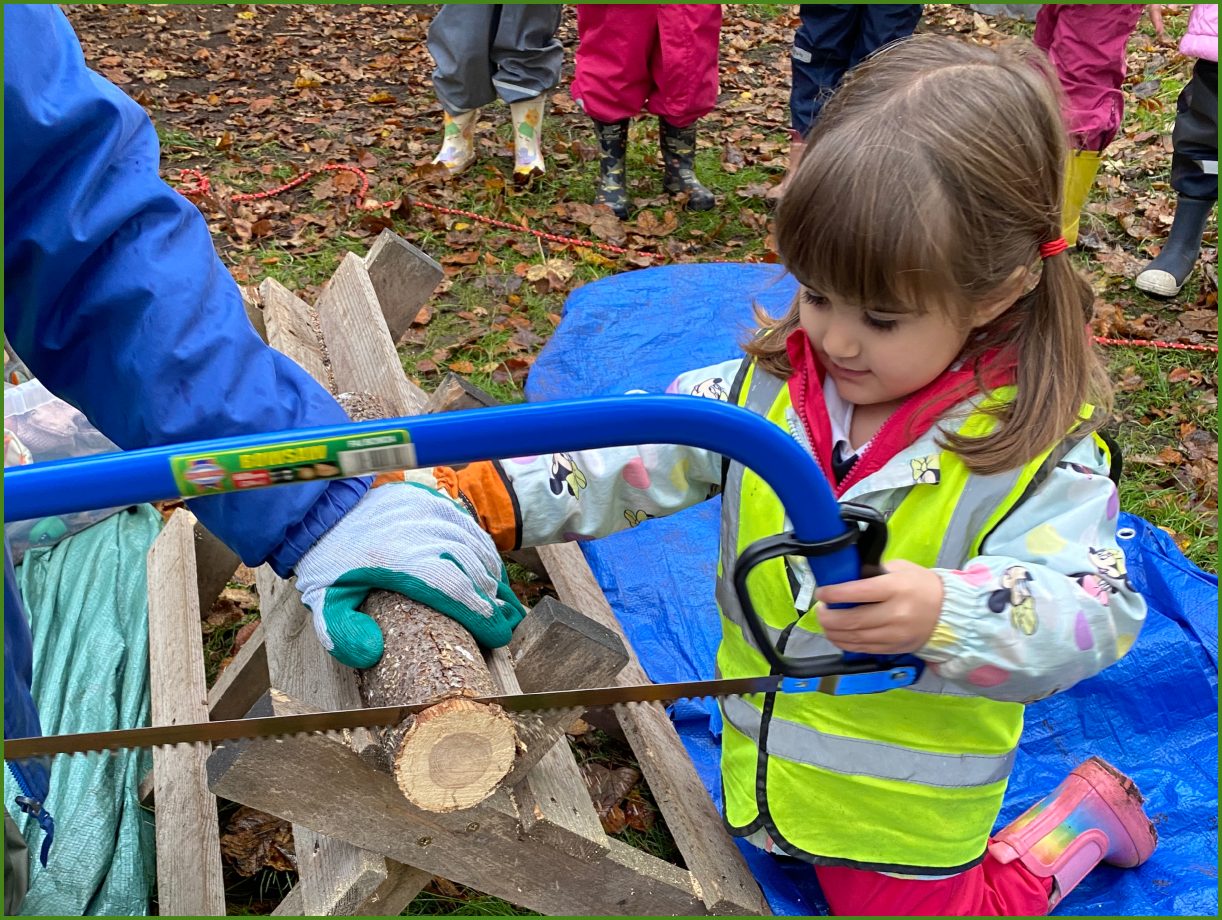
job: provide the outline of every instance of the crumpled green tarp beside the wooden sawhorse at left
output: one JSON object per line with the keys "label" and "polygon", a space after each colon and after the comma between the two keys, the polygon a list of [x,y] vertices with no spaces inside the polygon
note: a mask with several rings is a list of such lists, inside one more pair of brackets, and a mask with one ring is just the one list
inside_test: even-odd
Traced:
{"label": "crumpled green tarp beside the wooden sawhorse at left", "polygon": [[[34,634],[34,700],[46,734],[148,725],[145,555],[161,529],[148,505],[121,512],[56,546],[31,549],[17,568]],[[153,816],[137,787],[148,751],[61,756],[46,808],[55,843],[33,859],[27,916],[143,915],[153,874]],[[32,854],[42,831],[5,803]]]}

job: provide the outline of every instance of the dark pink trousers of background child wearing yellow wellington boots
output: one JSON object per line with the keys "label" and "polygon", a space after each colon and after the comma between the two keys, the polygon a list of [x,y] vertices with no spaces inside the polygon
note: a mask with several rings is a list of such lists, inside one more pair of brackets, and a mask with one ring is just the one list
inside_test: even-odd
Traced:
{"label": "dark pink trousers of background child wearing yellow wellington boots", "polygon": [[1124,116],[1124,49],[1141,4],[1044,4],[1035,44],[1047,53],[1066,94],[1066,127],[1078,150],[1102,150]]}

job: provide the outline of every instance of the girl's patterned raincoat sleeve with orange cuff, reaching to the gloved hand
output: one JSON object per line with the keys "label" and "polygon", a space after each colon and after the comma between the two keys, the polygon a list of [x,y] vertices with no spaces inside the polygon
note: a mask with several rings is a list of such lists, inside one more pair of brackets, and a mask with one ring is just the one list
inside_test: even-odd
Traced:
{"label": "girl's patterned raincoat sleeve with orange cuff, reaching to the gloved hand", "polygon": [[[741,360],[678,376],[668,393],[726,401]],[[433,472],[502,550],[606,536],[716,494],[721,455],[679,445],[606,447]]]}

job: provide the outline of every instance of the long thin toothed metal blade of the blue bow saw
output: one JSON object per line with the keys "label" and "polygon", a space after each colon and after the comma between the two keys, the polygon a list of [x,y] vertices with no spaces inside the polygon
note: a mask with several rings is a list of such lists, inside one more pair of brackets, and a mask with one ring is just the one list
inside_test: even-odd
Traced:
{"label": "long thin toothed metal blade of the blue bow saw", "polygon": [[[477,696],[472,698],[470,701],[496,705],[514,712],[580,710],[634,703],[675,703],[682,699],[700,699],[706,696],[774,693],[782,688],[782,683],[788,689],[793,684],[793,678],[774,674],[770,677],[687,681],[635,687],[601,687],[584,690],[544,690],[539,693]],[[811,683],[818,683],[818,679]],[[55,754],[90,754],[174,744],[205,744],[315,732],[342,732],[352,728],[380,728],[398,725],[408,716],[435,706],[440,701],[431,700],[429,703],[413,703],[401,706],[334,710],[330,712],[255,716],[252,718],[193,722],[177,726],[117,728],[106,732],[55,734],[40,738],[6,738],[4,743],[4,759],[24,760]]]}

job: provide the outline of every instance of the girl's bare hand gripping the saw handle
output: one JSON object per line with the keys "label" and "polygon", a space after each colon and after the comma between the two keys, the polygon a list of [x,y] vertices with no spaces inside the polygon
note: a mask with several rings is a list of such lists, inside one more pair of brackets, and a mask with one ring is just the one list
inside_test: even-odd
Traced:
{"label": "girl's bare hand gripping the saw handle", "polygon": [[942,579],[914,562],[895,560],[875,578],[827,585],[815,591],[824,634],[844,651],[902,655],[929,641],[942,616]]}

